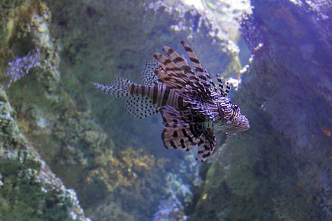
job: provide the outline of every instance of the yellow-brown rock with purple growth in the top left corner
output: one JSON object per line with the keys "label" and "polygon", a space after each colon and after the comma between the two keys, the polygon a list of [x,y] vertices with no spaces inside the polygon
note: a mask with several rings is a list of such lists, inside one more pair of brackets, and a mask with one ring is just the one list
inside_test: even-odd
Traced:
{"label": "yellow-brown rock with purple growth in the top left corner", "polygon": [[60,79],[59,45],[50,36],[50,11],[39,0],[14,1],[0,9],[5,14],[1,20],[3,30],[2,46],[4,61],[10,56],[6,76],[8,86],[27,73],[35,73],[38,82],[45,84],[48,91],[54,91]]}

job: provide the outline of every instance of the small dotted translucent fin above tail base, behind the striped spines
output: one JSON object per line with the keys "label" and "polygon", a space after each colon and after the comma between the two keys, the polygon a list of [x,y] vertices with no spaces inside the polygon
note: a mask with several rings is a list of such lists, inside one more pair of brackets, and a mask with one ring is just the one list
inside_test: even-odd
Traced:
{"label": "small dotted translucent fin above tail base, behind the striped spines", "polygon": [[159,68],[159,62],[156,59],[145,61],[142,66],[142,84],[153,86],[158,84],[158,76],[154,70]]}

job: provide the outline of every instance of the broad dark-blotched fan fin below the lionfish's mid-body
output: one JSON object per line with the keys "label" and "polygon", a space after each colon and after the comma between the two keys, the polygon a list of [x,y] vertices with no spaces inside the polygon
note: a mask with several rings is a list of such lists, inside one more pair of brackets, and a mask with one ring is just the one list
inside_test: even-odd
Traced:
{"label": "broad dark-blotched fan fin below the lionfish's mid-body", "polygon": [[161,116],[164,123],[161,138],[166,148],[187,148],[189,151],[199,143],[203,123],[193,124],[186,114],[171,106],[162,107]]}

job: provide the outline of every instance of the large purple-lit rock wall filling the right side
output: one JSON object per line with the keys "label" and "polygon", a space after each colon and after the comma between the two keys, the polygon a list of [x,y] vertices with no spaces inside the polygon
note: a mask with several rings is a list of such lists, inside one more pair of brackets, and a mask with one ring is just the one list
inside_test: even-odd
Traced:
{"label": "large purple-lit rock wall filling the right side", "polygon": [[251,128],[217,150],[189,220],[329,220],[331,1],[252,6],[237,97]]}

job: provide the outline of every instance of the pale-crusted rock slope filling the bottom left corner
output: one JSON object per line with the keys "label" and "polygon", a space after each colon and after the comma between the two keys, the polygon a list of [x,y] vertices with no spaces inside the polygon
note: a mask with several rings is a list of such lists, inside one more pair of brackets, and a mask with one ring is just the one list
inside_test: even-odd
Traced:
{"label": "pale-crusted rock slope filling the bottom left corner", "polygon": [[74,190],[64,187],[15,122],[0,86],[0,219],[89,220]]}

